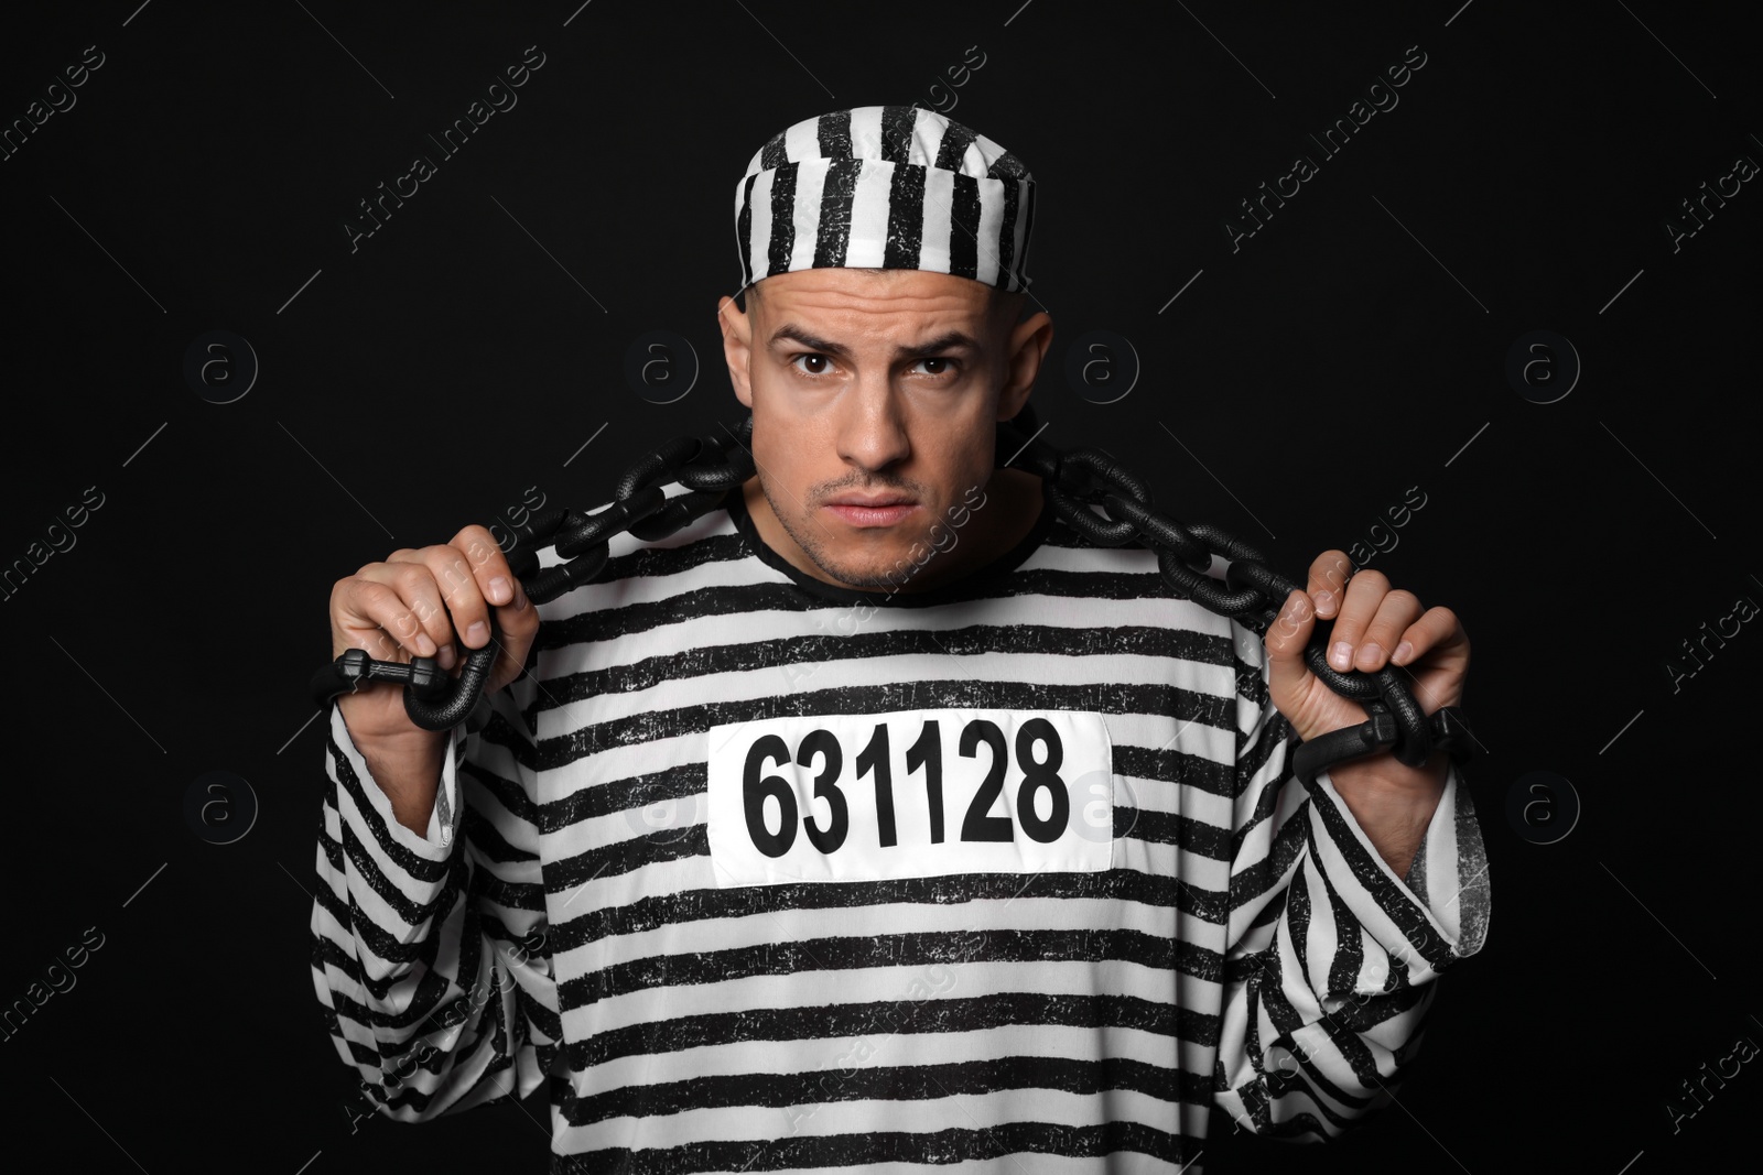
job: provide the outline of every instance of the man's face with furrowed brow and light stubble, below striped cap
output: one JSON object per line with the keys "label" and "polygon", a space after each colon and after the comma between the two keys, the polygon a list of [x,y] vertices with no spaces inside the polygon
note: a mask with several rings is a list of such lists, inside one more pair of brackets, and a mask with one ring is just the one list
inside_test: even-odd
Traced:
{"label": "man's face with furrowed brow and light stubble, below striped cap", "polygon": [[1017,326],[986,285],[924,270],[799,270],[762,287],[748,314],[733,299],[721,314],[765,502],[820,578],[899,587],[991,481],[994,426],[1028,398],[1045,315]]}

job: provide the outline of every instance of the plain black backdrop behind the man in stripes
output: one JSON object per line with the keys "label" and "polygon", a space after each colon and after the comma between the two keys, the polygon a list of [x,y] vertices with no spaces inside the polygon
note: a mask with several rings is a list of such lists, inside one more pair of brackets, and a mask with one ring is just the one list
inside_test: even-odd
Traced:
{"label": "plain black backdrop behind the man in stripes", "polygon": [[[1419,486],[1372,565],[1474,641],[1486,948],[1442,979],[1400,1106],[1305,1149],[1215,1115],[1206,1170],[1641,1175],[1730,1154],[1759,1062],[1675,1133],[1666,1099],[1763,1043],[1763,634],[1745,624],[1677,691],[1666,659],[1763,602],[1763,196],[1745,183],[1677,250],[1664,220],[1763,159],[1756,44],[1726,5],[1460,2],[9,11],[7,123],[86,46],[104,65],[0,162],[0,560],[86,486],[104,506],[0,613],[0,1001],[88,927],[104,946],[0,1041],[7,1149],[155,1175],[543,1170],[543,1089],[418,1127],[351,1131],[342,1110],[307,964],[324,777],[301,724],[330,585],[534,481],[603,500],[640,447],[737,423],[714,310],[748,159],[802,118],[919,100],[1035,174],[1044,439],[1105,446],[1171,514],[1296,576]],[[425,136],[527,46],[545,63],[518,106],[441,160]],[[933,92],[970,46],[986,63]],[[1306,136],[1409,46],[1426,63],[1400,104],[1322,160]],[[437,174],[351,252],[344,220],[418,153]],[[1299,153],[1319,174],[1232,252],[1224,220]],[[261,361],[233,403],[183,377],[213,329]],[[666,405],[622,379],[652,329],[703,365]],[[1114,403],[1065,379],[1093,329],[1142,365]],[[1553,403],[1506,375],[1537,329],[1583,363]],[[185,817],[213,770],[259,803],[233,844]],[[1532,839],[1562,809],[1507,816],[1530,772],[1583,803],[1555,844]]]}

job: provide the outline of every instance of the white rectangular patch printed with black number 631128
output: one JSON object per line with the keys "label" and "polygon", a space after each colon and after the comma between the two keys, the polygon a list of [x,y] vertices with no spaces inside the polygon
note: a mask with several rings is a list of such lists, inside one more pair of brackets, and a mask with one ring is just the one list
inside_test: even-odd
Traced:
{"label": "white rectangular patch printed with black number 631128", "polygon": [[719,886],[1097,872],[1112,861],[1112,747],[1100,713],[765,719],[714,726],[709,747]]}

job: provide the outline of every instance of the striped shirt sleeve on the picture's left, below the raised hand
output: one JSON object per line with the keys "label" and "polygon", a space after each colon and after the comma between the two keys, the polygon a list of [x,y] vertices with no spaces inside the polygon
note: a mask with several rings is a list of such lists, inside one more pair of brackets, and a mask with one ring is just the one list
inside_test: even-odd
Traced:
{"label": "striped shirt sleeve on the picture's left, below the raised hand", "polygon": [[421,1122],[531,1094],[559,1060],[531,673],[453,728],[428,833],[391,814],[330,712],[312,981],[356,1117]]}

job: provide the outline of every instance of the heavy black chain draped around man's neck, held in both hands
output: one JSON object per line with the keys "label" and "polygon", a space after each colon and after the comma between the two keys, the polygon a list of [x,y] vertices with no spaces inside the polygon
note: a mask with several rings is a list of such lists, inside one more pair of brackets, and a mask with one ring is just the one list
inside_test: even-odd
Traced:
{"label": "heavy black chain draped around man's neck, held in both hands", "polygon": [[[1017,432],[1030,430],[1028,433]],[[1135,543],[1157,551],[1157,567],[1169,588],[1206,610],[1238,620],[1257,636],[1278,617],[1285,599],[1301,585],[1264,565],[1264,557],[1246,543],[1206,523],[1181,525],[1151,504],[1149,488],[1097,449],[1061,453],[1038,440],[1033,409],[1008,425],[998,425],[998,453],[1005,462],[1038,474],[1047,500],[1074,530],[1098,546]],[[606,541],[628,530],[636,539],[663,539],[721,506],[730,491],[753,477],[753,418],[726,437],[675,437],[635,462],[619,479],[614,500],[598,514],[550,507],[520,527],[527,543],[517,543],[510,569],[520,580],[527,599],[545,604],[564,592],[589,583],[606,565]],[[663,484],[681,483],[688,493],[668,499]],[[1105,514],[1097,514],[1100,506]],[[538,569],[538,550],[555,546],[564,560]],[[1229,562],[1220,585],[1206,571],[1213,557]],[[1400,763],[1419,766],[1433,750],[1446,750],[1467,763],[1472,736],[1456,706],[1442,706],[1430,717],[1414,701],[1400,669],[1386,664],[1375,673],[1340,673],[1328,664],[1328,636],[1333,624],[1319,622],[1305,647],[1305,662],[1324,685],[1365,706],[1366,721],[1312,738],[1292,756],[1294,773],[1312,784],[1315,773],[1347,759],[1389,749]],[[495,615],[490,615],[490,641],[465,654],[457,678],[448,676],[434,657],[416,657],[409,664],[376,661],[361,648],[351,648],[312,676],[312,699],[323,708],[337,694],[360,689],[361,682],[398,682],[404,685],[404,710],[428,731],[444,731],[464,722],[480,706],[490,666],[501,648]]]}

